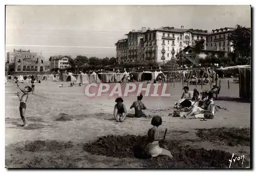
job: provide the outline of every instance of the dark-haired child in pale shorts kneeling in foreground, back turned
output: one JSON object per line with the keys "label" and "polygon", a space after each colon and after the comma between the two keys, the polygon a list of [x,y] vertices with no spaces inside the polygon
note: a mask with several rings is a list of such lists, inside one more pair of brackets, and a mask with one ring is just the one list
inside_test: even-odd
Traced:
{"label": "dark-haired child in pale shorts kneeling in foreground, back turned", "polygon": [[167,156],[170,159],[173,158],[173,155],[168,150],[162,149],[159,146],[159,141],[164,139],[159,138],[157,129],[162,125],[162,118],[160,116],[154,116],[151,120],[151,125],[153,125],[153,127],[147,132],[148,141],[150,142],[147,145],[148,152],[152,157]]}

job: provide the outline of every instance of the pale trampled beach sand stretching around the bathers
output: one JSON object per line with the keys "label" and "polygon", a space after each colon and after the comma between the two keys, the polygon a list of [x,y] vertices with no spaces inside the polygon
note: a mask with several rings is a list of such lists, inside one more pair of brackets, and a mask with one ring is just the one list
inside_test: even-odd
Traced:
{"label": "pale trampled beach sand stretching around the bathers", "polygon": [[[229,79],[230,89],[228,89],[227,80],[221,80],[220,97],[235,100],[239,96],[239,84],[232,83],[232,79]],[[242,153],[249,160],[250,146],[230,146],[225,143],[216,144],[200,140],[196,135],[196,129],[250,128],[250,103],[240,102],[239,99],[236,99],[237,102],[215,101],[216,105],[227,110],[218,111],[215,119],[207,121],[171,117],[168,114],[173,111],[175,102],[182,95],[182,84],[176,83],[175,88],[172,84],[170,97],[143,98],[142,102],[147,107],[144,113],[151,117],[127,117],[124,122],[118,123],[113,120],[115,98],[102,96],[89,99],[84,95],[84,85],[58,88],[60,84],[69,86],[70,82],[42,81],[36,84],[35,95],[29,94],[27,101],[28,127],[25,128],[19,127],[22,119],[19,116],[19,101],[15,97],[16,84],[6,84],[6,167],[141,167],[139,159],[92,155],[83,151],[81,146],[106,135],[146,135],[147,130],[152,127],[151,117],[154,115],[162,117],[163,123],[159,128],[162,131],[168,129],[167,140],[183,140],[184,144],[195,148],[204,147],[206,150],[223,150],[235,155]],[[29,83],[20,84],[20,87],[24,88],[26,85]],[[196,86],[189,86],[190,90],[194,88]],[[197,86],[197,89],[201,91],[201,86]],[[203,89],[210,89],[210,86],[203,86]],[[136,95],[123,97],[123,100],[128,112],[134,113],[134,110],[129,108],[136,100]],[[183,133],[184,131],[187,133]],[[70,141],[72,147],[67,145],[66,148],[65,145],[58,151],[56,149],[57,152],[17,150],[18,147],[27,145],[29,141],[36,140],[54,140],[62,144]]]}

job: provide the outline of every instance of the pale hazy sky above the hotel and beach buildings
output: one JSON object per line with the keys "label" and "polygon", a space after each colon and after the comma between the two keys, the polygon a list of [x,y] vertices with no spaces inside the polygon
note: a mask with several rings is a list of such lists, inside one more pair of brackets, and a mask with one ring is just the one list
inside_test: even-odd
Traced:
{"label": "pale hazy sky above the hotel and beach buildings", "polygon": [[6,6],[6,52],[116,57],[115,43],[142,27],[251,27],[250,6]]}

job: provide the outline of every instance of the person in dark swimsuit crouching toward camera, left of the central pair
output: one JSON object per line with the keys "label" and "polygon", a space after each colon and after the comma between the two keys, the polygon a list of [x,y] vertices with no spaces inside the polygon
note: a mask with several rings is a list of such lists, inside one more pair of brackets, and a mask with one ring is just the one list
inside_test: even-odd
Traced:
{"label": "person in dark swimsuit crouching toward camera, left of the central pair", "polygon": [[118,97],[115,101],[117,104],[114,107],[114,117],[117,122],[122,122],[127,115],[127,110],[123,104],[123,99]]}

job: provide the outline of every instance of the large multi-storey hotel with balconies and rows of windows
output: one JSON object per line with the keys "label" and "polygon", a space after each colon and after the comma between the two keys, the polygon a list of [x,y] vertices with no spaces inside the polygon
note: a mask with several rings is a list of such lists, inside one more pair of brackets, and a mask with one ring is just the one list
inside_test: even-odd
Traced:
{"label": "large multi-storey hotel with balconies and rows of windows", "polygon": [[180,29],[174,27],[161,27],[150,29],[142,27],[141,30],[133,30],[126,39],[118,40],[116,45],[116,57],[118,63],[139,62],[151,60],[156,62],[175,59],[176,55],[187,46],[194,46],[196,40],[204,39],[202,51],[227,54],[232,52],[231,42],[228,36],[233,28],[221,28],[212,30]]}

